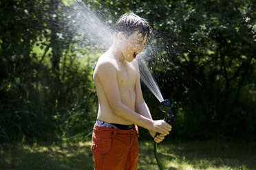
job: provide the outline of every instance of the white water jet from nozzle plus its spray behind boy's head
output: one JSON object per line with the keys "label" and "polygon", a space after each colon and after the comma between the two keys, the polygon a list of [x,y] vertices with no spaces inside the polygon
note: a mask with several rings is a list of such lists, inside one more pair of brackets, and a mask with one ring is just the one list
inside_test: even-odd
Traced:
{"label": "white water jet from nozzle plus its spray behind boy's head", "polygon": [[[68,27],[72,27],[72,32],[79,34],[81,41],[87,44],[96,43],[100,49],[105,50],[111,46],[114,35],[111,33],[113,30],[102,20],[100,20],[99,13],[91,10],[87,5],[81,1],[74,1],[70,5],[69,12],[64,12],[69,20]],[[144,50],[137,57],[140,68],[140,79],[151,90],[153,95],[161,102],[164,101],[162,93],[154,80],[145,58],[147,57],[147,50]]]}

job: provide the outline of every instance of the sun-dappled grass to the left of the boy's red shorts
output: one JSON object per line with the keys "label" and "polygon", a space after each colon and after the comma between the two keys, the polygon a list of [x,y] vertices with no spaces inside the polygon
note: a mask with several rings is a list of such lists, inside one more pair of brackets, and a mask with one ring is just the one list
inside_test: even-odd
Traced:
{"label": "sun-dappled grass to the left of the boy's red shorts", "polygon": [[90,143],[4,145],[0,169],[93,169]]}

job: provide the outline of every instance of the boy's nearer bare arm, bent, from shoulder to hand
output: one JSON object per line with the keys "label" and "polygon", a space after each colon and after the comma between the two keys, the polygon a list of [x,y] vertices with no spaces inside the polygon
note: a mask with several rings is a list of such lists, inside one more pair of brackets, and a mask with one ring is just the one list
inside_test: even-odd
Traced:
{"label": "boy's nearer bare arm, bent, from shoulder to hand", "polygon": [[98,76],[103,86],[105,96],[107,97],[109,106],[114,114],[131,123],[145,127],[152,132],[169,134],[168,127],[166,127],[164,121],[152,121],[151,119],[134,112],[134,110],[131,110],[129,107],[125,106],[125,104],[122,104],[116,78],[116,67],[113,62],[105,61],[100,63],[96,76]]}

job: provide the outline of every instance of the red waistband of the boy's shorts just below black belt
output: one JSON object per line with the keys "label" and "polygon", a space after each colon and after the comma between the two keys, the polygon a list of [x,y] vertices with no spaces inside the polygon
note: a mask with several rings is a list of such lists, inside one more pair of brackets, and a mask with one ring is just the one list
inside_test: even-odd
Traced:
{"label": "red waistband of the boy's shorts just below black belt", "polygon": [[134,125],[133,130],[118,130],[114,127],[101,127],[99,125],[94,124],[94,130],[111,134],[136,134],[137,136],[139,136],[137,125]]}

